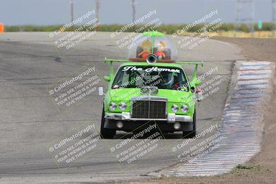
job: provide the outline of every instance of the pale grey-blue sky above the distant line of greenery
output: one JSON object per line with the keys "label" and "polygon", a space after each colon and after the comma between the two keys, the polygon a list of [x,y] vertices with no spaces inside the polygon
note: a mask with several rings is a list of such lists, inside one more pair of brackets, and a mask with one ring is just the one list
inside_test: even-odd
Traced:
{"label": "pale grey-blue sky above the distant line of greenery", "polygon": [[[54,25],[70,22],[70,0],[0,0],[0,23]],[[74,0],[75,19],[95,10],[95,0]],[[101,23],[131,23],[132,0],[99,0]],[[218,10],[222,21],[235,22],[236,0],[135,0],[136,17],[156,10],[162,23],[193,23]],[[255,0],[255,21],[272,21],[272,0]],[[242,17],[249,17],[244,6]]]}

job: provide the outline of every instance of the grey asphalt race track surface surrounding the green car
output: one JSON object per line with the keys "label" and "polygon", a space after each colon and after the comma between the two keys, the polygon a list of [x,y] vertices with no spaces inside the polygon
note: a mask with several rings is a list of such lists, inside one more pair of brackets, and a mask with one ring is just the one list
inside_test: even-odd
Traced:
{"label": "grey asphalt race track surface surrounding the green car", "polygon": [[[65,34],[65,33],[62,33]],[[150,172],[179,163],[172,146],[183,141],[181,134],[166,134],[154,152],[134,161],[118,163],[110,148],[121,142],[125,132],[117,132],[117,139],[100,139],[92,152],[74,161],[57,163],[49,147],[62,137],[78,132],[95,123],[99,130],[102,101],[97,91],[89,100],[59,112],[48,93],[49,86],[61,81],[86,65],[95,67],[101,76],[97,86],[106,88],[102,76],[109,73],[104,57],[124,59],[127,50],[117,46],[108,32],[98,32],[70,49],[59,49],[48,33],[0,34],[0,182],[12,177],[14,181],[34,181],[41,177],[47,181],[110,181],[143,178]],[[177,44],[177,39],[174,39]],[[192,50],[177,45],[180,59],[204,61],[199,74],[212,68],[217,71],[204,82],[221,76],[219,90],[204,99],[197,110],[199,132],[218,125],[228,96],[233,63],[243,59],[240,49],[221,41],[207,40]],[[115,64],[118,66],[118,64]],[[193,68],[185,66],[192,74]],[[206,136],[212,136],[210,132]],[[203,137],[201,139],[206,139]],[[201,141],[197,139],[194,144]],[[75,140],[78,141],[78,140]],[[131,145],[139,143],[136,139]],[[187,145],[185,149],[189,149]],[[24,178],[22,178],[24,176]]]}

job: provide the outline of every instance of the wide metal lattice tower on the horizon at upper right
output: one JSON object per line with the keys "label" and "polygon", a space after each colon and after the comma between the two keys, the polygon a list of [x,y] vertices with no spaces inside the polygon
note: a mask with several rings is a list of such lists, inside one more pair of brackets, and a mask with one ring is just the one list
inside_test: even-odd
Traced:
{"label": "wide metal lattice tower on the horizon at upper right", "polygon": [[254,37],[254,18],[255,18],[255,3],[254,0],[237,0],[236,1],[236,19],[234,37],[241,23],[250,25],[251,37]]}

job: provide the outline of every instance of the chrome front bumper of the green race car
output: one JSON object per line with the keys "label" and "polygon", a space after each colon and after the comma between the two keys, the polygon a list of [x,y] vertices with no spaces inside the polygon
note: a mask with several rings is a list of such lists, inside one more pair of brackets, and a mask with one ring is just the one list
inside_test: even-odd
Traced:
{"label": "chrome front bumper of the green race car", "polygon": [[167,121],[168,123],[175,122],[193,122],[193,116],[168,114],[166,119],[135,119],[131,118],[130,112],[121,113],[106,113],[105,119],[121,120],[121,121]]}

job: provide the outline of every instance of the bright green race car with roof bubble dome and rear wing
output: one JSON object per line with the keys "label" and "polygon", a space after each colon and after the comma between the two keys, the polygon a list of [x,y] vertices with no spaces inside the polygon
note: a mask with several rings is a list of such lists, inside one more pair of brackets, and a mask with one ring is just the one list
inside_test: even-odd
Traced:
{"label": "bright green race car with roof bubble dome and rear wing", "polygon": [[[197,65],[176,61],[177,50],[161,32],[145,32],[129,46],[128,60],[105,59],[110,63],[108,90],[104,96],[101,136],[112,139],[117,130],[137,132],[145,123],[155,123],[161,132],[196,134]],[[113,73],[113,62],[121,62]],[[193,64],[188,79],[181,64]],[[103,88],[99,88],[103,95]]]}

